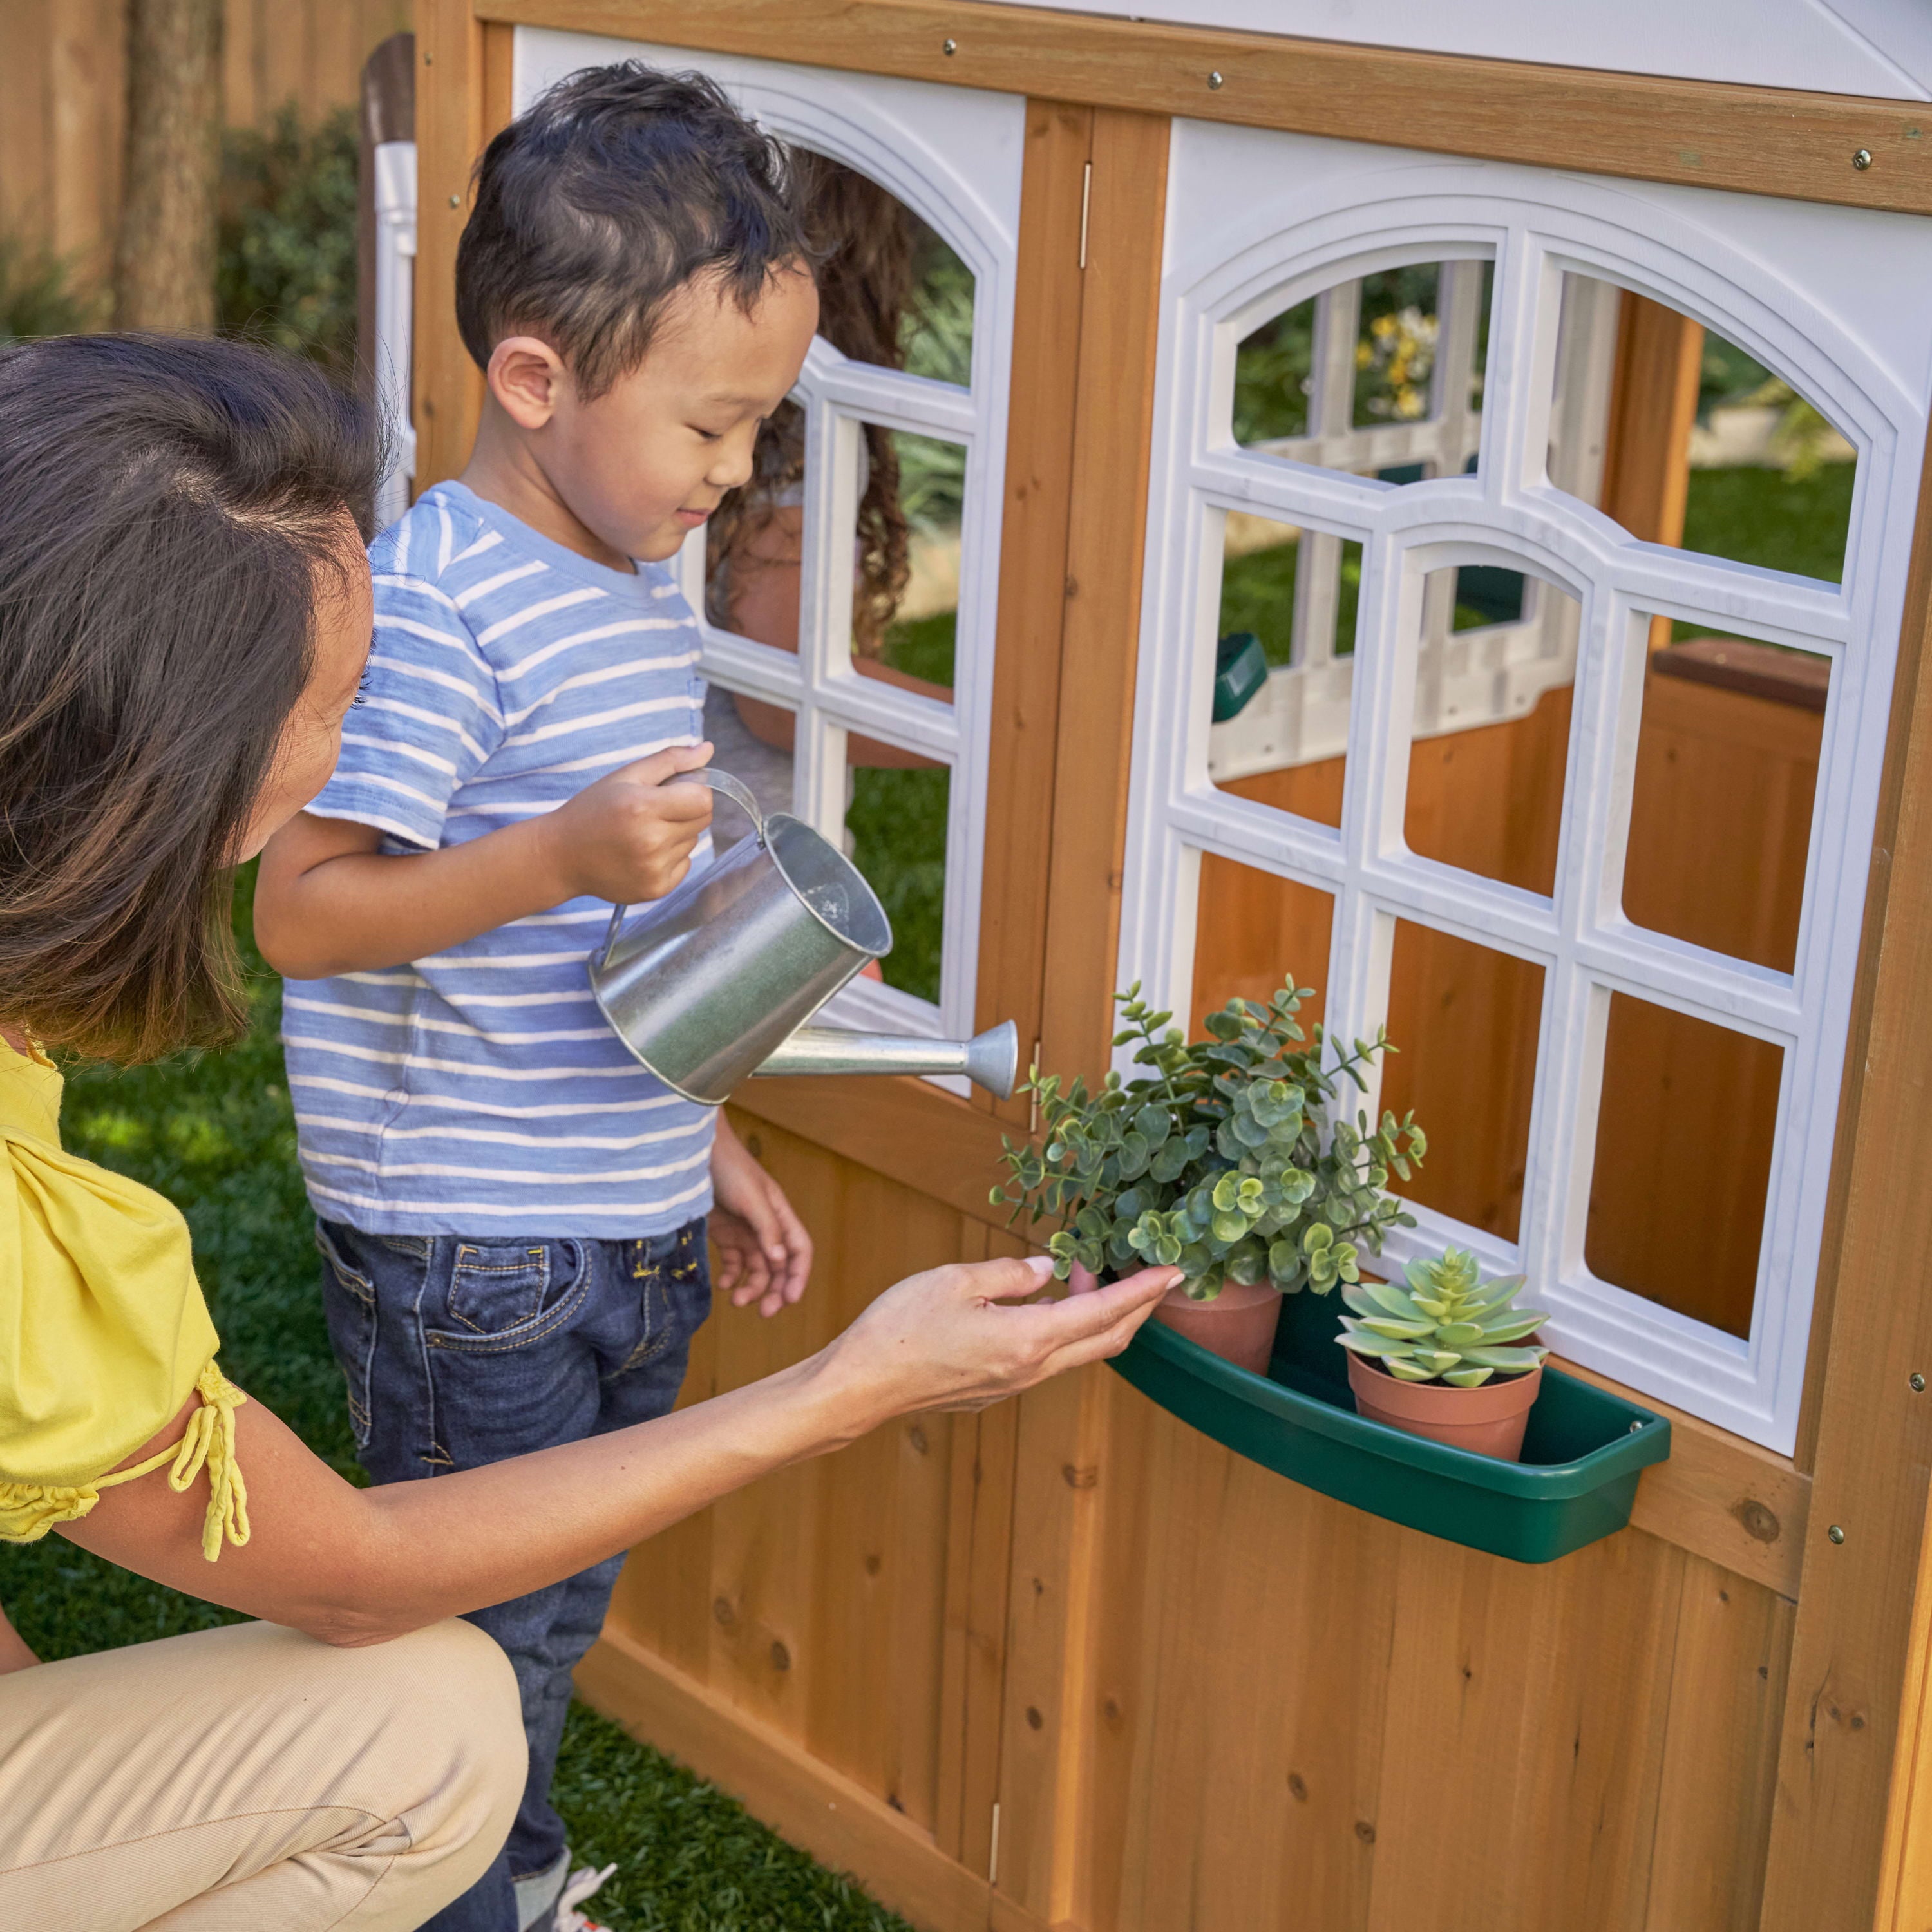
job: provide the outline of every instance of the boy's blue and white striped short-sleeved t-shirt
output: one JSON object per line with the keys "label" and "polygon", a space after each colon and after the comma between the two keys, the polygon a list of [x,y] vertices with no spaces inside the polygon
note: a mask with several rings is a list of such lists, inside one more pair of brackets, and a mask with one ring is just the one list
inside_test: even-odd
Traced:
{"label": "boy's blue and white striped short-sleeved t-shirt", "polygon": [[[369,560],[369,678],[309,810],[379,827],[383,850],[481,838],[703,738],[697,628],[667,570],[607,570],[460,483],[425,493]],[[323,1219],[632,1238],[709,1209],[713,1111],[645,1072],[591,999],[609,918],[572,898],[412,966],[288,981],[288,1086]]]}

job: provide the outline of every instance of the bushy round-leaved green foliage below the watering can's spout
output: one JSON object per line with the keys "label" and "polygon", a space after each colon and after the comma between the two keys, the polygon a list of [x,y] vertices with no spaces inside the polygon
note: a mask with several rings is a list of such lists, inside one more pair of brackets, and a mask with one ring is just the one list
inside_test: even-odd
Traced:
{"label": "bushy round-leaved green foliage below the watering can's spout", "polygon": [[1095,1275],[1180,1267],[1196,1300],[1227,1281],[1287,1294],[1358,1281],[1364,1248],[1379,1254],[1387,1229],[1414,1227],[1383,1188],[1391,1173],[1406,1180],[1428,1144],[1412,1115],[1331,1122],[1339,1082],[1366,1090],[1364,1068],[1395,1049],[1378,1032],[1323,1066],[1321,1028],[1310,1043],[1294,1018],[1310,995],[1289,980],[1265,1007],[1231,999],[1208,1014],[1208,1039],[1186,1041],[1140,981],[1117,993],[1126,1026],[1113,1043],[1132,1045],[1148,1074],[1109,1072],[1090,1094],[1032,1068],[1022,1092],[1043,1142],[1005,1142],[1010,1182],[993,1204],[1012,1209],[1009,1225],[1061,1221],[1047,1248],[1063,1281],[1074,1262]]}

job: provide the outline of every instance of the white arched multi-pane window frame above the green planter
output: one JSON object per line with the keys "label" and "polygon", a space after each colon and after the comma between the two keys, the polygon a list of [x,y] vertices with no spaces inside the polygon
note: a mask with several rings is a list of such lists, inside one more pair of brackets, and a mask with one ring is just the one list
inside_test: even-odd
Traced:
{"label": "white arched multi-pane window frame above the green planter", "polygon": [[[1238,195],[1227,191],[1231,182]],[[1283,185],[1269,193],[1256,184]],[[1526,1269],[1536,1300],[1553,1310],[1549,1337],[1561,1354],[1789,1453],[1926,417],[1922,342],[1907,330],[1884,340],[1884,328],[1870,328],[1870,309],[1922,286],[1932,224],[1882,216],[1870,232],[1845,236],[1845,211],[1650,184],[1609,187],[1188,122],[1175,128],[1167,207],[1121,980],[1140,978],[1161,1005],[1186,1010],[1202,852],[1333,895],[1323,985],[1335,1037],[1372,1034],[1383,1020],[1397,918],[1542,966],[1519,1240],[1416,1209],[1420,1225],[1391,1238],[1389,1256],[1455,1240],[1490,1269]],[[1267,317],[1378,269],[1486,255],[1495,286],[1476,475],[1387,485],[1233,442],[1235,348]],[[1774,261],[1795,267],[1777,272]],[[1861,464],[1843,587],[1638,543],[1548,481],[1567,270],[1704,321],[1837,423]],[[1227,510],[1364,545],[1339,829],[1211,782]],[[1551,898],[1420,858],[1403,840],[1416,651],[1397,645],[1420,636],[1424,578],[1459,564],[1534,572],[1582,607]],[[1832,659],[1791,974],[1623,918],[1652,614]],[[1304,974],[1321,966],[1283,960],[1291,964]],[[1748,1339],[1631,1294],[1584,1264],[1613,991],[1785,1051]],[[1437,1140],[1457,1130],[1453,1119],[1424,1124]]]}

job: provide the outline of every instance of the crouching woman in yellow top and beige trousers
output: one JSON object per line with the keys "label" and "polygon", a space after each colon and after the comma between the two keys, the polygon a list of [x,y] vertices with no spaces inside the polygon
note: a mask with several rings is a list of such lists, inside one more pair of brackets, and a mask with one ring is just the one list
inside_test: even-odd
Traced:
{"label": "crouching woman in yellow top and beige trousers", "polygon": [[0,1617],[0,1924],[419,1924],[524,1785],[508,1665],[450,1619],[1115,1354],[1173,1281],[1030,1306],[1039,1264],[941,1267],[752,1387],[375,1490],[224,1379],[180,1215],[60,1151],[44,1049],[240,1028],[228,881],[334,765],[373,468],[352,404],[234,344],[0,357],[0,1536],[261,1619],[35,1665]]}

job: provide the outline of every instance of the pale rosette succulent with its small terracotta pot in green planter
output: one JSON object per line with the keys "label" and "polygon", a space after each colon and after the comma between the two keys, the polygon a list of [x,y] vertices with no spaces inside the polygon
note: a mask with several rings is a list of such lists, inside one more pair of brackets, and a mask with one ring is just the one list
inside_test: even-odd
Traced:
{"label": "pale rosette succulent with its small terracotta pot in green planter", "polygon": [[1549,1316],[1517,1308],[1522,1275],[1484,1281],[1476,1256],[1445,1248],[1410,1262],[1403,1281],[1345,1287],[1349,1387],[1360,1414],[1410,1435],[1515,1463],[1549,1350]]}

